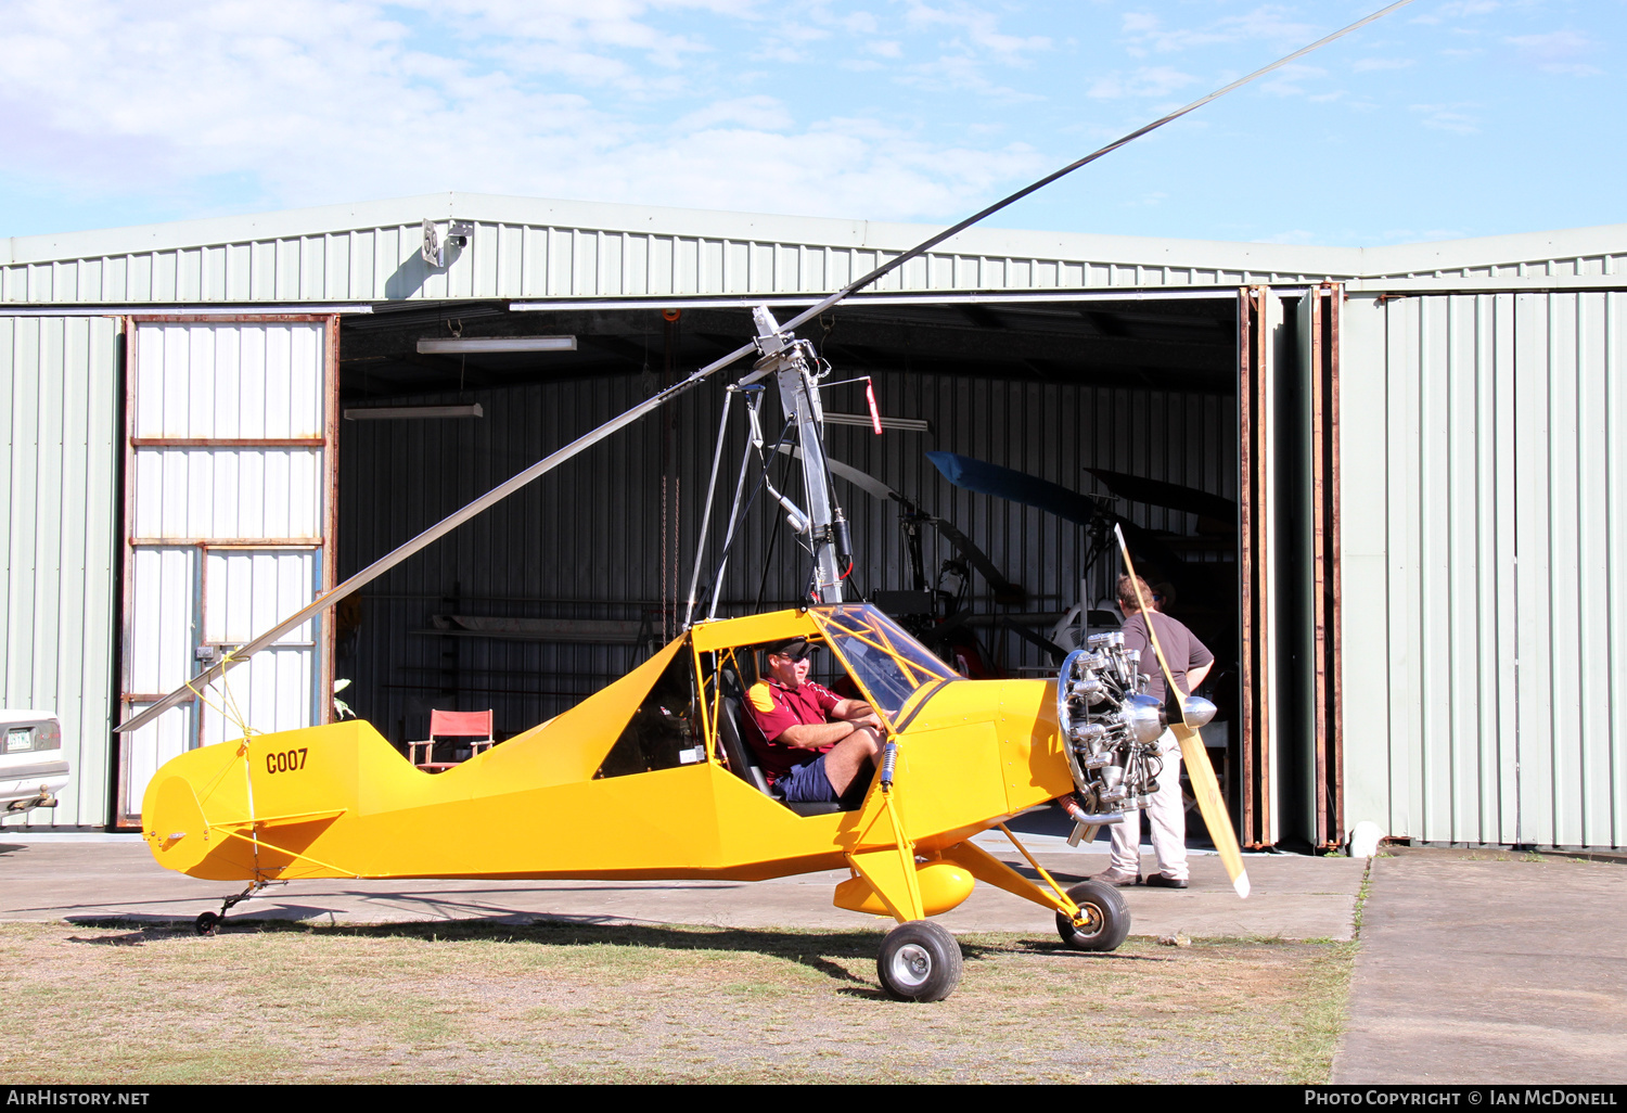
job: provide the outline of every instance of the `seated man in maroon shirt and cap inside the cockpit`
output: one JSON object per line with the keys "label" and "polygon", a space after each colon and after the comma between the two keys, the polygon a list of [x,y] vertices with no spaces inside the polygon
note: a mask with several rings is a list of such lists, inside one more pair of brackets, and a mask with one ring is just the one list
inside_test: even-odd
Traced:
{"label": "seated man in maroon shirt and cap inside the cockpit", "polygon": [[787,804],[840,801],[882,745],[882,722],[869,703],[809,680],[815,648],[807,638],[768,646],[766,675],[744,701],[742,734]]}

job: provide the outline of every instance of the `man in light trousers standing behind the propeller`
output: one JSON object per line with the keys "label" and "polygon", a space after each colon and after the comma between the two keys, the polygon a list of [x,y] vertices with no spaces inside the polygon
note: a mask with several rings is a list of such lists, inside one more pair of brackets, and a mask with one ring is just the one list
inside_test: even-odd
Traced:
{"label": "man in light trousers standing behind the propeller", "polygon": [[[1173,708],[1175,701],[1191,695],[1193,688],[1204,682],[1215,656],[1175,618],[1157,610],[1142,613],[1136,602],[1136,584],[1141,586],[1142,599],[1152,605],[1152,589],[1147,587],[1147,581],[1119,576],[1124,648],[1141,651],[1141,670],[1149,677],[1147,695]],[[1147,636],[1149,622],[1155,623],[1158,644],[1163,646],[1163,657],[1170,662],[1180,695],[1163,690],[1163,669],[1158,667],[1158,654],[1154,653],[1152,638]],[[1170,719],[1178,718],[1178,709],[1170,714]],[[1152,794],[1152,804],[1145,809],[1147,823],[1152,827],[1152,851],[1158,856],[1158,872],[1147,877],[1147,885],[1186,888],[1186,807],[1181,804],[1181,744],[1175,731],[1163,732],[1158,752],[1163,755],[1163,771],[1158,775],[1158,791]],[[1141,812],[1142,809],[1136,809],[1124,815],[1123,823],[1108,828],[1113,831],[1113,859],[1105,872],[1097,874],[1097,880],[1108,885],[1141,884]]]}

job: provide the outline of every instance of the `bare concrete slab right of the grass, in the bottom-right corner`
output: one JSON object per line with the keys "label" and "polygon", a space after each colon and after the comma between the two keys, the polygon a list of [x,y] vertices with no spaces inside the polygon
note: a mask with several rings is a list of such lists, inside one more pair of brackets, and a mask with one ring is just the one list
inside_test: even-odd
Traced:
{"label": "bare concrete slab right of the grass, in the bottom-right corner", "polygon": [[1627,874],[1507,851],[1373,859],[1333,1082],[1627,1082]]}

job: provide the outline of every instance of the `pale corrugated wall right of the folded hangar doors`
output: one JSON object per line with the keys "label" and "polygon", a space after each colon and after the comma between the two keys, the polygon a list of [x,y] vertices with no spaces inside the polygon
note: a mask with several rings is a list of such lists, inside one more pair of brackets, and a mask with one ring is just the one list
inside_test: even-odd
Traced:
{"label": "pale corrugated wall right of the folded hangar doors", "polygon": [[[1388,830],[1622,846],[1627,295],[1360,299],[1359,316],[1385,360],[1388,693],[1347,719],[1388,714]],[[1350,509],[1347,539],[1380,526],[1372,500]]]}

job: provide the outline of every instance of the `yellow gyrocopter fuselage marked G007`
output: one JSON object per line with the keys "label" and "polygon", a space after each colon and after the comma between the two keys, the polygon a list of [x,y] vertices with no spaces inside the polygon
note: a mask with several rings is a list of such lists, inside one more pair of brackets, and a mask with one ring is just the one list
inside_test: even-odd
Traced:
{"label": "yellow gyrocopter fuselage marked G007", "polygon": [[[906,705],[890,731],[893,788],[862,807],[797,815],[711,760],[595,776],[631,711],[677,653],[727,626],[761,636],[796,612],[711,623],[576,708],[444,773],[408,763],[368,722],[259,734],[184,753],[153,778],[143,833],[159,864],[216,880],[316,877],[760,880],[853,866],[906,908],[918,888],[890,864],[945,851],[988,867],[965,840],[1072,791],[1056,685],[952,680]],[[716,711],[714,711],[716,714]],[[866,862],[870,862],[867,867]],[[882,862],[882,866],[877,866]],[[877,871],[882,871],[877,874]],[[1009,879],[996,884],[1007,885]],[[966,879],[970,892],[970,877]],[[931,905],[931,898],[927,905]]]}

